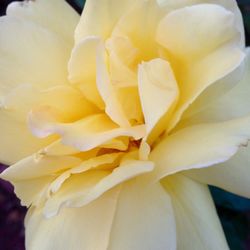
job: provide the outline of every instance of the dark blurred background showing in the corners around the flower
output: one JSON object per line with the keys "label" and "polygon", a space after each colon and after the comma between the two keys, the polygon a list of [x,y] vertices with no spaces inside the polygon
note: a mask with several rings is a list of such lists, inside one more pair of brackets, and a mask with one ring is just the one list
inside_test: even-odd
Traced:
{"label": "dark blurred background showing in the corners around the flower", "polygon": [[[0,15],[5,14],[10,2],[13,1],[0,0]],[[67,2],[81,13],[85,1],[67,0]],[[244,18],[246,44],[250,46],[250,0],[238,0],[238,4]],[[6,166],[0,165],[0,172],[5,168]],[[218,188],[210,187],[210,190],[230,249],[250,250],[250,200]],[[26,208],[20,205],[13,187],[0,180],[0,250],[25,249],[23,226],[25,213]]]}

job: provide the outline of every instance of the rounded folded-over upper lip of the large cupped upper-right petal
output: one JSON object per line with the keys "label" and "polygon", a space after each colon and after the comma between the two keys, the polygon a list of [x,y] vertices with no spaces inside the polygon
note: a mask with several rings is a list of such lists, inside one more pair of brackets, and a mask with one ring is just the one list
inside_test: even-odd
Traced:
{"label": "rounded folded-over upper lip of the large cupped upper-right petal", "polygon": [[199,4],[168,13],[159,23],[157,41],[180,60],[193,61],[237,35],[232,12],[219,5]]}

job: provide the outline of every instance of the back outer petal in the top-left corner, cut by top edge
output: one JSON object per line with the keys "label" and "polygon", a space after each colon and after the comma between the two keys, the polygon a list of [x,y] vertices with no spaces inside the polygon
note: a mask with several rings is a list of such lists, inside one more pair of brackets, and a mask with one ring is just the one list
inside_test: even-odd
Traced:
{"label": "back outer petal in the top-left corner, cut by top edge", "polygon": [[74,30],[79,21],[77,12],[62,0],[14,2],[8,6],[7,15],[35,22],[69,43],[73,43]]}

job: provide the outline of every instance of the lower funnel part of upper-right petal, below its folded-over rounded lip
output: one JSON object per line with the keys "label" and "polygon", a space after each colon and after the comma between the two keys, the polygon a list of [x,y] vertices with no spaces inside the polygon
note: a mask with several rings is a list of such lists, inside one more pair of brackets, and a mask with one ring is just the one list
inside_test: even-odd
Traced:
{"label": "lower funnel part of upper-right petal, below its folded-over rounded lip", "polygon": [[[180,121],[183,113],[208,87],[215,86],[228,74],[235,71],[244,60],[238,48],[223,46],[184,70],[180,85],[180,99],[169,123],[171,130]],[[215,90],[217,90],[215,88]]]}

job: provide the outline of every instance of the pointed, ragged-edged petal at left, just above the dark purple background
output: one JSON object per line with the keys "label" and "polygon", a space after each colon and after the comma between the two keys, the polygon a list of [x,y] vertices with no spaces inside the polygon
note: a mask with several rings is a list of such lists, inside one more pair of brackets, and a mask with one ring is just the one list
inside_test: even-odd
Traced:
{"label": "pointed, ragged-edged petal at left, just above the dark purple background", "polygon": [[74,167],[81,160],[71,156],[33,155],[7,168],[0,177],[10,181],[25,206],[38,205],[48,197],[50,183],[58,171]]}

